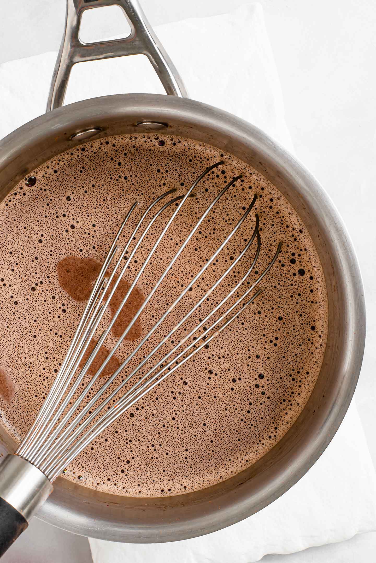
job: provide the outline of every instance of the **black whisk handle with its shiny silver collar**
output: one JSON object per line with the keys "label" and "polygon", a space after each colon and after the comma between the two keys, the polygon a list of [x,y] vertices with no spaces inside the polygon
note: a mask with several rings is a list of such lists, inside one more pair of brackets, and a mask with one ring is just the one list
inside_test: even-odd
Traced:
{"label": "black whisk handle with its shiny silver collar", "polygon": [[0,557],[26,530],[52,489],[51,482],[32,463],[7,455],[0,465]]}

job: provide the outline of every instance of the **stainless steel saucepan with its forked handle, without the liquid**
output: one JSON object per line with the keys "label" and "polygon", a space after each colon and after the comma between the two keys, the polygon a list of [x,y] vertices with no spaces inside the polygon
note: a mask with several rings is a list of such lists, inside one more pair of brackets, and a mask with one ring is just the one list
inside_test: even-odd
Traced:
{"label": "stainless steel saucepan with its forked handle, without the liquid", "polygon": [[[84,10],[118,5],[131,25],[127,39],[82,44]],[[144,53],[168,95],[104,96],[61,107],[76,62]],[[287,434],[247,470],[206,489],[167,498],[99,493],[59,478],[38,517],[74,533],[118,542],[170,542],[234,524],[287,491],[332,440],[359,376],[365,305],[359,266],[341,217],[323,188],[262,131],[225,111],[187,98],[181,78],[136,0],[68,0],[66,28],[47,113],[0,142],[1,199],[35,167],[88,138],[168,132],[232,153],[268,178],[305,223],[319,253],[329,300],[329,334],[319,379]],[[3,452],[16,443],[0,427]]]}

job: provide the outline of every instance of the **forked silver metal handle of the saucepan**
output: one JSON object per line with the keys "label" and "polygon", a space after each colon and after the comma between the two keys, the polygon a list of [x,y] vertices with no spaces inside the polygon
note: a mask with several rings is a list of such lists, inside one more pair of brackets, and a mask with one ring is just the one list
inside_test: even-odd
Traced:
{"label": "forked silver metal handle of the saucepan", "polygon": [[[84,10],[100,6],[122,8],[131,26],[131,34],[127,38],[97,43],[82,43],[79,40],[78,32]],[[146,55],[153,65],[167,94],[187,97],[179,73],[153,32],[138,0],[66,0],[64,34],[53,70],[46,112],[64,104],[70,71],[76,62],[141,54]]]}

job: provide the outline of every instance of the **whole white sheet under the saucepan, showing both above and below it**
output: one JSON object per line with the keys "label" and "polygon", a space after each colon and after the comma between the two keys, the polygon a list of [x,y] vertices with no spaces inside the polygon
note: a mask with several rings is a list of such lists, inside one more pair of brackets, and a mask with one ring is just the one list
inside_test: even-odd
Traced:
{"label": "whole white sheet under the saucepan, showing both above and below it", "polygon": [[[158,26],[190,97],[256,124],[289,150],[283,98],[262,8]],[[42,114],[56,53],[0,65],[0,137]],[[147,61],[146,61],[147,62]],[[157,92],[156,75],[140,57],[76,65],[66,102],[120,92]],[[124,71],[119,72],[121,65]],[[123,67],[121,67],[123,68]],[[150,69],[149,69],[150,70]],[[376,477],[356,406],[310,471],[270,506],[229,528],[169,544],[121,544],[89,539],[94,563],[179,561],[250,563],[267,553],[292,553],[376,529]]]}

